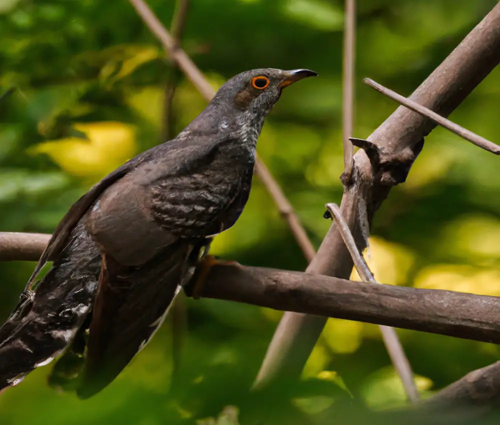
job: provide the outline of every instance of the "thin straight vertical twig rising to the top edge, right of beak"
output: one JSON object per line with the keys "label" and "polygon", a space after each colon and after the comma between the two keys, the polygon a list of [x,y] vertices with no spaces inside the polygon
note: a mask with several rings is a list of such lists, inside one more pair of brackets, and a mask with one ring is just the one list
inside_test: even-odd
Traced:
{"label": "thin straight vertical twig rising to the top edge, right of beak", "polygon": [[344,175],[348,179],[352,168],[354,146],[349,141],[354,121],[354,60],[356,34],[356,0],[345,0],[343,75],[342,75],[342,143]]}

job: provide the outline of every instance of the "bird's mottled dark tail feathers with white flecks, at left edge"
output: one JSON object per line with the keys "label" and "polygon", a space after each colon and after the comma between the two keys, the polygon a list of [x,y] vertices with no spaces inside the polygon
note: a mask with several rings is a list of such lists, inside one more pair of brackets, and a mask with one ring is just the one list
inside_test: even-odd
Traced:
{"label": "bird's mottled dark tail feathers with white flecks, at left edge", "polygon": [[100,255],[83,229],[75,228],[73,235],[36,290],[21,295],[0,328],[0,389],[59,355],[91,309]]}

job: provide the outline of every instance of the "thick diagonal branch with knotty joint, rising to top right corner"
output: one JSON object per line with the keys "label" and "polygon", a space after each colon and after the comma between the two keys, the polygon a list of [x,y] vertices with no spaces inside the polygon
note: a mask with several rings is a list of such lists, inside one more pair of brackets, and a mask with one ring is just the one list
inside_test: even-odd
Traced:
{"label": "thick diagonal branch with knotty joint, rising to top right corner", "polygon": [[[413,92],[410,99],[447,116],[500,62],[500,3],[463,39]],[[344,188],[342,216],[360,250],[366,224],[390,188],[406,179],[411,164],[435,123],[399,106],[354,155],[352,184]],[[367,222],[367,223],[366,223]],[[347,278],[352,260],[335,226],[331,226],[309,264],[310,273]],[[299,376],[326,319],[287,312],[283,315],[259,371],[259,379]]]}

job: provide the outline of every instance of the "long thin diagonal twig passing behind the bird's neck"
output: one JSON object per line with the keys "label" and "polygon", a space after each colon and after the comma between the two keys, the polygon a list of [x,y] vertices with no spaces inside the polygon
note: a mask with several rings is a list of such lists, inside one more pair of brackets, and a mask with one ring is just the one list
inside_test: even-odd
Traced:
{"label": "long thin diagonal twig passing behind the bird's neck", "polygon": [[[170,58],[177,62],[179,68],[184,72],[187,78],[189,78],[201,95],[207,101],[210,101],[215,94],[215,91],[185,51],[181,48],[175,48],[174,39],[159,19],[154,15],[149,6],[142,0],[129,1],[147,27],[161,41],[164,49],[169,53]],[[314,247],[307,237],[307,233],[301,225],[300,220],[294,213],[290,202],[288,202],[278,183],[258,157],[255,159],[255,172],[261,178],[262,183],[271,195],[274,203],[277,205],[279,212],[288,223],[288,226],[290,227],[298,245],[302,249],[305,258],[310,261],[315,253]]]}

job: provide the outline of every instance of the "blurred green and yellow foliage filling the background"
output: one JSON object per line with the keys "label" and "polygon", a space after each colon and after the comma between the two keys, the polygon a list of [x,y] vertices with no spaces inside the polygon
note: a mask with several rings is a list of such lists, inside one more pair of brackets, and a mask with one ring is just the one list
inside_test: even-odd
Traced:
{"label": "blurred green and yellow foliage filling the background", "polygon": [[[170,22],[173,0],[149,3]],[[366,137],[396,106],[361,77],[408,95],[494,4],[359,1],[353,135]],[[343,2],[336,0],[191,0],[182,43],[214,87],[257,67],[319,73],[284,92],[258,143],[316,246],[330,224],[323,205],[342,193],[342,25]],[[0,0],[0,93],[17,88],[0,104],[0,230],[52,231],[93,182],[158,143],[170,72],[125,0]],[[497,69],[450,118],[494,141],[499,99]],[[175,130],[204,105],[183,79]],[[433,131],[374,221],[369,256],[377,279],[500,295],[497,161],[446,130]],[[248,265],[306,265],[258,179],[240,220],[213,251]],[[33,265],[0,264],[1,319]],[[173,381],[167,320],[97,396],[83,402],[55,392],[46,385],[50,366],[42,367],[2,392],[0,423],[322,424],[336,422],[336,409],[354,402],[375,409],[404,402],[376,326],[330,319],[300,384],[249,394],[280,313],[217,300],[185,304],[187,332]],[[498,358],[491,344],[398,333],[422,395]]]}

